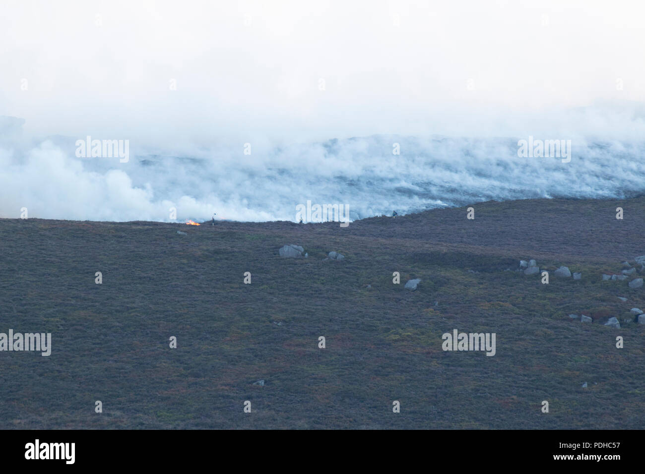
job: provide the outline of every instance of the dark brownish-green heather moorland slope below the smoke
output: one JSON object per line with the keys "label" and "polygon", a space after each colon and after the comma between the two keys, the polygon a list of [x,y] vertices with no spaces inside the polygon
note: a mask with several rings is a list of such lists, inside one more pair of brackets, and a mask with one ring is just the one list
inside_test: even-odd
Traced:
{"label": "dark brownish-green heather moorland slope below the smoke", "polygon": [[[643,428],[645,325],[624,319],[645,288],[601,274],[645,254],[645,197],[473,207],[347,228],[1,219],[0,332],[52,333],[49,357],[0,352],[1,428]],[[505,271],[520,259],[550,283]],[[495,333],[495,355],[443,351],[453,329]]]}

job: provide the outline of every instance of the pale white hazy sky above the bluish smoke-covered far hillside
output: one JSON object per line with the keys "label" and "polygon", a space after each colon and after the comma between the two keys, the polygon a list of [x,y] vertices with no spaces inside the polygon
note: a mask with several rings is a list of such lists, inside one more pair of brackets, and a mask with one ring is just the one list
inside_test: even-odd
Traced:
{"label": "pale white hazy sky above the bluish smoke-covered far hillside", "polygon": [[41,135],[162,144],[487,135],[557,121],[554,111],[597,99],[645,95],[640,1],[5,0],[0,8],[0,115],[23,117],[26,132]]}

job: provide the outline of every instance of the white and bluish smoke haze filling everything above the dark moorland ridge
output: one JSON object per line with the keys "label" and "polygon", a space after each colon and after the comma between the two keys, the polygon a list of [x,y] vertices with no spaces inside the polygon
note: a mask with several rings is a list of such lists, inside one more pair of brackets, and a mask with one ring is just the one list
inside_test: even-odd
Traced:
{"label": "white and bluish smoke haze filling everything above the dark moorland ridge", "polygon": [[[644,191],[645,5],[2,8],[0,115],[24,120],[0,120],[1,217],[293,221],[311,200],[357,219]],[[77,157],[88,135],[128,140],[129,161]],[[529,136],[571,140],[571,162],[518,157]]]}

